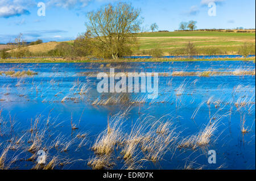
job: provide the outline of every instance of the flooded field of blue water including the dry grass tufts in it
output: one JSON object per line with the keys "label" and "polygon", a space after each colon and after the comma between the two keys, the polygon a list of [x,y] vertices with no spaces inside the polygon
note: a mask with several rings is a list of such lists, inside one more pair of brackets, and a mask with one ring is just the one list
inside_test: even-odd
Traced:
{"label": "flooded field of blue water including the dry grass tufts in it", "polygon": [[[110,68],[158,97],[99,93]],[[0,169],[255,169],[255,63],[0,64]]]}

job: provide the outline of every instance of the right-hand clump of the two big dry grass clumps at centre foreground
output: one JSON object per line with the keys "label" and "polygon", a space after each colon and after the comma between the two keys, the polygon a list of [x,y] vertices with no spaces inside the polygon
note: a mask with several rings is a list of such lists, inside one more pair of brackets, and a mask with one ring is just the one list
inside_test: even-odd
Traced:
{"label": "right-hand clump of the two big dry grass clumps at centre foreground", "polygon": [[138,121],[138,124],[134,125],[124,141],[125,146],[122,149],[124,159],[136,160],[139,155],[138,148],[144,154],[144,159],[152,162],[162,159],[178,136],[175,128],[172,127],[171,120],[164,122],[163,117],[159,120],[154,120],[152,116],[146,117],[143,121]]}

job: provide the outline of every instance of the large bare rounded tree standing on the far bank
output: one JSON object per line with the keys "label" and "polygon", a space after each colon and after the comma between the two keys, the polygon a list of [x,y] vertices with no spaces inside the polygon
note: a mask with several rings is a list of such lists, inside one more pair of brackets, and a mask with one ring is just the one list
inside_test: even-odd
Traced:
{"label": "large bare rounded tree standing on the far bank", "polygon": [[141,11],[127,3],[106,5],[87,14],[87,31],[93,38],[92,52],[99,57],[114,59],[131,53],[141,25]]}

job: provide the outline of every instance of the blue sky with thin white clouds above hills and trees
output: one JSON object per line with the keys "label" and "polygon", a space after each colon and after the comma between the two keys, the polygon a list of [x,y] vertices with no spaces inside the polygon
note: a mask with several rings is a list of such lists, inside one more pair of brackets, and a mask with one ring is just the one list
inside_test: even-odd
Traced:
{"label": "blue sky with thin white clouds above hills and trees", "polygon": [[[45,16],[38,15],[39,2],[46,5]],[[198,29],[255,28],[255,0],[0,0],[0,43],[13,42],[19,33],[26,41],[76,39],[86,31],[87,12],[119,2],[141,9],[145,31],[152,23],[174,31],[189,20],[195,20]],[[216,5],[215,16],[208,13],[209,3]]]}

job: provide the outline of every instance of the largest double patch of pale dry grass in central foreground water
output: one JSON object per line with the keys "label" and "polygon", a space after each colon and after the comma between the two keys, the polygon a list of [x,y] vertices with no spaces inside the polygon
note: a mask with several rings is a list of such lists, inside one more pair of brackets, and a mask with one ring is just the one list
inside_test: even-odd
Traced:
{"label": "largest double patch of pale dry grass in central foreground water", "polygon": [[170,115],[158,120],[152,116],[138,119],[131,131],[125,133],[122,127],[126,119],[124,120],[123,115],[114,115],[108,128],[100,133],[94,142],[92,149],[96,157],[91,158],[88,165],[93,169],[108,167],[110,155],[113,155],[114,150],[119,150],[119,158],[124,159],[126,169],[139,168],[145,161],[155,163],[162,160],[167,151],[175,148],[179,136],[171,120],[164,122],[167,116]]}

